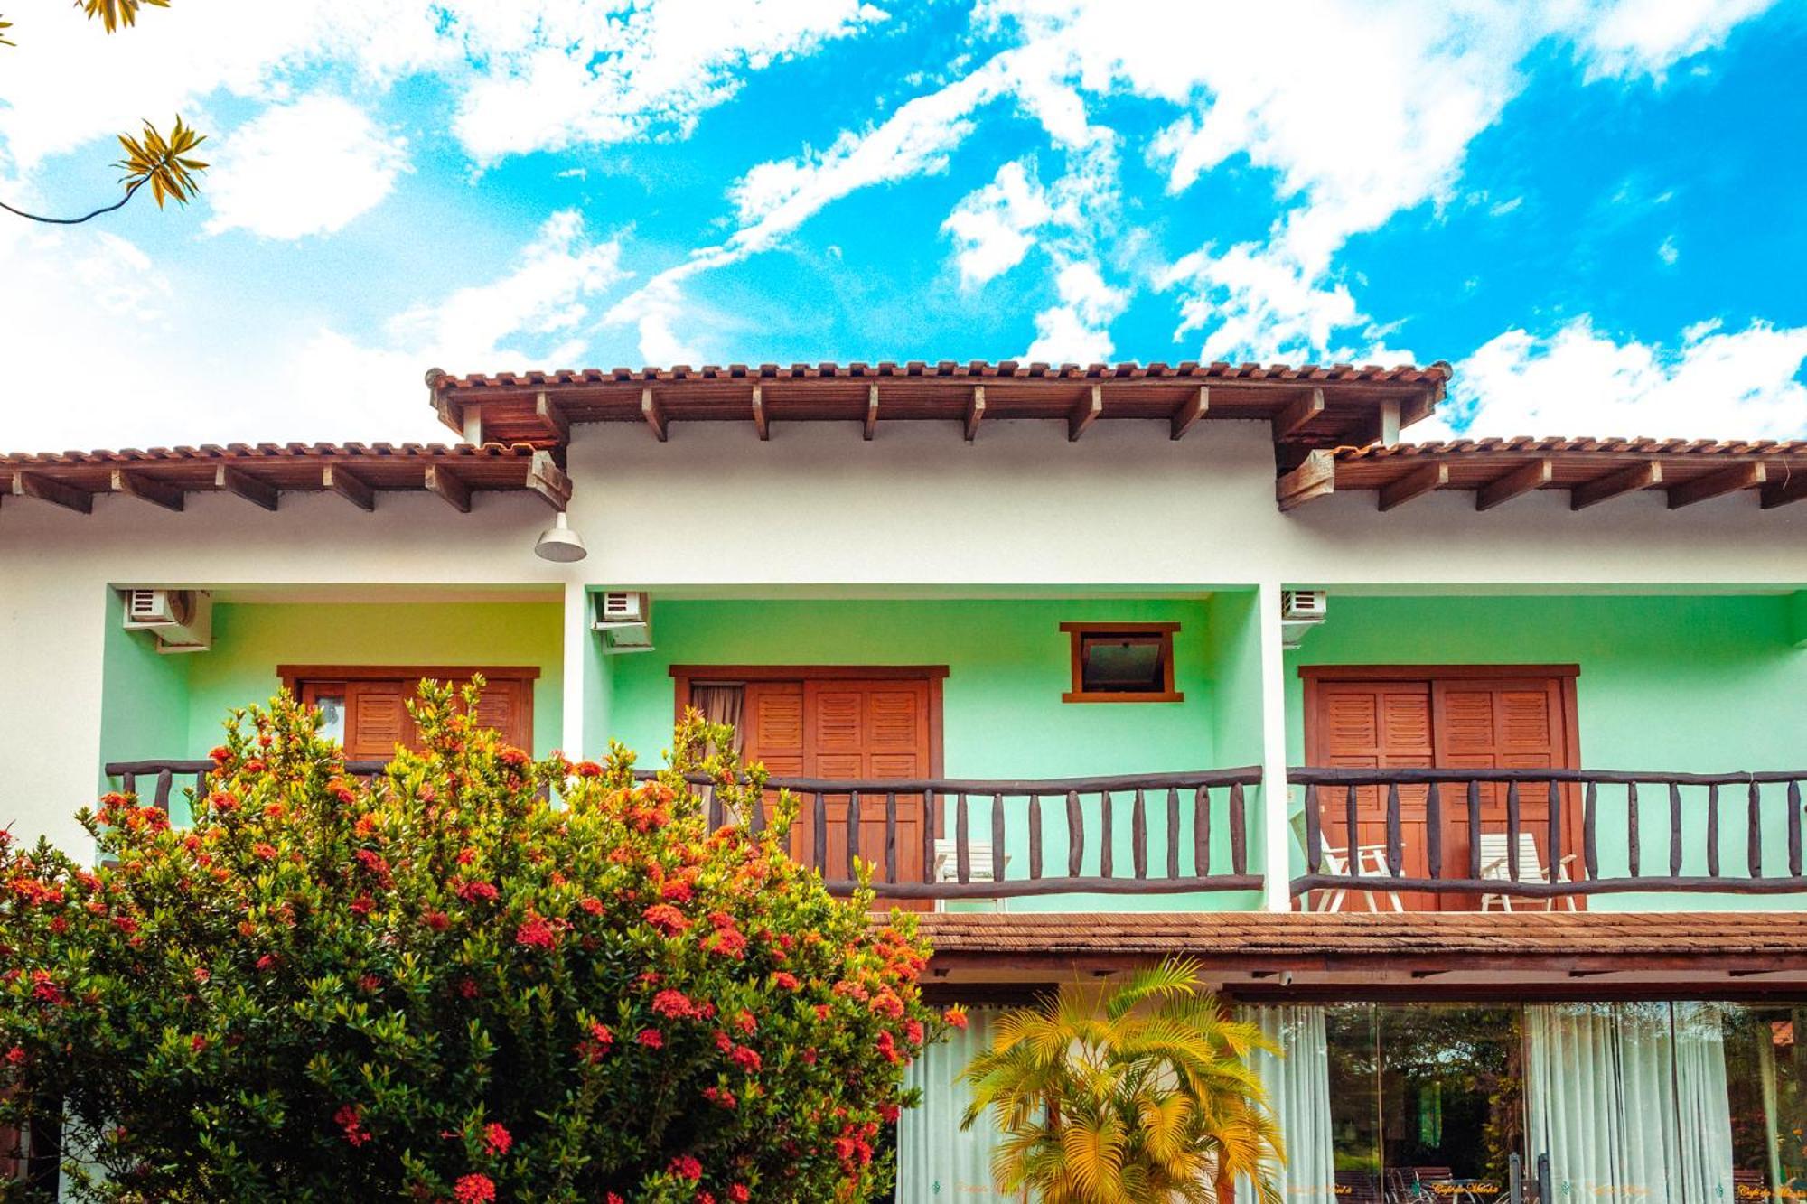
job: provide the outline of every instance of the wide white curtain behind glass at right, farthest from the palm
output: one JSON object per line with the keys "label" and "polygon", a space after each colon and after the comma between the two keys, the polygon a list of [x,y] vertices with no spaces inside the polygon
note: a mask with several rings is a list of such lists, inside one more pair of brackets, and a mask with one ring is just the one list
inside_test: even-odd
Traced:
{"label": "wide white curtain behind glass at right, farthest from the palm", "polygon": [[1731,1105],[1715,1011],[1681,1003],[1527,1007],[1531,1164],[1558,1199],[1731,1199]]}

